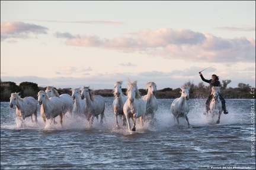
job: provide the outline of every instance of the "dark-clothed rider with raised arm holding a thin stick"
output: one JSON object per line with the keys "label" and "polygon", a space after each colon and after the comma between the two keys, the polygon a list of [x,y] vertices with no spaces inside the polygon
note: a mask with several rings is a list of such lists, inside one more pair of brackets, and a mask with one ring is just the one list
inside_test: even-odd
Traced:
{"label": "dark-clothed rider with raised arm holding a thin stick", "polygon": [[[212,79],[210,79],[210,80],[204,79],[203,74],[201,74],[201,72],[199,72],[199,75],[204,82],[210,84],[211,89],[212,89],[212,87],[220,87],[221,86],[219,77],[216,76],[215,74],[212,75]],[[222,110],[223,110],[224,114],[228,114],[228,110],[226,110],[225,99],[221,95],[219,95],[219,97],[220,97],[220,101],[222,102]],[[210,94],[208,96],[208,99],[206,100],[206,113],[210,110],[210,101],[211,100],[212,100],[212,94]]]}

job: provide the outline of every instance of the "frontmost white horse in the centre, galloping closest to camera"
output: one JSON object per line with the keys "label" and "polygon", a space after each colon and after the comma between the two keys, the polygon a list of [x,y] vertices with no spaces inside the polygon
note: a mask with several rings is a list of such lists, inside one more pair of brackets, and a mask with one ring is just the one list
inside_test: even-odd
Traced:
{"label": "frontmost white horse in the centre, galloping closest to camera", "polygon": [[[137,89],[137,81],[132,83],[130,80],[128,80],[126,95],[128,99],[126,100],[126,103],[124,103],[123,112],[126,116],[128,129],[136,131],[136,119],[139,118],[141,125],[143,125],[142,120],[146,114],[146,102],[141,99],[139,90]],[[133,121],[132,129],[130,118]]]}

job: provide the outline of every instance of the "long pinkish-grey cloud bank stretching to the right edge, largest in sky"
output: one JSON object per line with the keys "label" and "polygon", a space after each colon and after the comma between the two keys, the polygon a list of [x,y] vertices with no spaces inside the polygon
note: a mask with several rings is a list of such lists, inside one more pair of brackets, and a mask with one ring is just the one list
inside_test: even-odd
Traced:
{"label": "long pinkish-grey cloud bank stretching to the right edge, largest in sky", "polygon": [[205,32],[171,28],[127,32],[112,39],[95,35],[63,34],[66,36],[59,38],[66,38],[66,45],[72,46],[104,48],[123,53],[140,52],[194,62],[255,62],[255,40],[252,38],[225,39]]}

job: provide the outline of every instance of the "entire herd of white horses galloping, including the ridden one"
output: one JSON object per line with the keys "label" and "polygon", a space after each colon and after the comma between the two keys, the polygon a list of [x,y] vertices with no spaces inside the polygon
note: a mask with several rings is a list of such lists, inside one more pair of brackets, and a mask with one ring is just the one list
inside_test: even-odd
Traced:
{"label": "entire herd of white horses galloping, including the ridden one", "polygon": [[[136,120],[143,126],[143,123],[149,122],[149,125],[154,125],[156,122],[155,114],[158,110],[158,100],[156,99],[156,84],[154,82],[146,83],[147,94],[141,96],[137,88],[137,81],[128,80],[126,95],[121,91],[123,81],[116,81],[113,89],[113,112],[116,120],[116,128],[120,129],[118,120],[122,120],[122,126],[126,126],[131,131],[136,131]],[[190,87],[181,87],[181,96],[171,103],[171,113],[174,115],[174,121],[184,117],[188,121],[189,112],[189,89]],[[11,93],[9,107],[16,107],[16,115],[24,122],[26,117],[31,116],[37,122],[37,103],[40,107],[40,115],[44,122],[50,120],[50,123],[55,122],[55,117],[59,116],[60,127],[62,128],[62,119],[66,113],[72,113],[79,116],[85,116],[88,120],[89,127],[92,127],[94,118],[100,116],[100,123],[103,123],[105,101],[104,97],[92,94],[89,87],[71,89],[72,95],[59,95],[53,86],[48,86],[45,91],[38,92],[38,100],[34,97],[21,98],[19,93]],[[218,115],[216,123],[220,122],[222,113],[222,105],[219,99],[219,87],[212,87],[213,100],[210,103],[209,114],[214,117]],[[131,121],[132,120],[132,121]]]}

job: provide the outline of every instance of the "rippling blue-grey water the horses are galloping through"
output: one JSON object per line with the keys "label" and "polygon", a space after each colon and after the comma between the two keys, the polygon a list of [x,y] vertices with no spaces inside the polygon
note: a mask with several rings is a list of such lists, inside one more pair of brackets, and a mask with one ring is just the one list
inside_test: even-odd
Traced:
{"label": "rippling blue-grey water the horses are galloping through", "polygon": [[137,125],[132,133],[116,129],[114,98],[104,99],[105,122],[95,119],[91,129],[84,117],[71,115],[63,129],[58,117],[57,125],[45,125],[40,106],[38,125],[28,117],[24,126],[1,102],[1,169],[255,169],[250,99],[226,99],[229,114],[219,125],[203,115],[205,99],[190,99],[190,128],[183,118],[174,122],[174,99],[158,99],[155,127]]}

